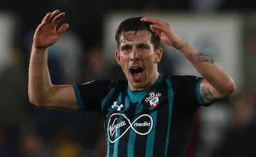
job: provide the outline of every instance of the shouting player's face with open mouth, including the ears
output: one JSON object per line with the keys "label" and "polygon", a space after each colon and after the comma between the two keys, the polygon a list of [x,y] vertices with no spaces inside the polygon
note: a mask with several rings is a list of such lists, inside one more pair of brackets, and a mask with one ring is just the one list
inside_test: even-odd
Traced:
{"label": "shouting player's face with open mouth, including the ears", "polygon": [[119,49],[115,52],[117,63],[127,77],[130,90],[145,90],[156,82],[159,77],[157,64],[162,57],[162,49],[154,50],[151,35],[148,31],[126,33],[120,37]]}

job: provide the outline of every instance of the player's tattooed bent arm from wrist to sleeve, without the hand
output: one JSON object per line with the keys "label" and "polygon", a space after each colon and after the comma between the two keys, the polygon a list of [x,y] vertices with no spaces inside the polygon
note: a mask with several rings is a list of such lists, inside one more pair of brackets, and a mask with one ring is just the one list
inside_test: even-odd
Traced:
{"label": "player's tattooed bent arm from wrist to sleeve, without the hand", "polygon": [[188,43],[183,43],[179,50],[203,76],[200,92],[206,104],[228,97],[235,90],[233,79],[213,59],[198,52]]}

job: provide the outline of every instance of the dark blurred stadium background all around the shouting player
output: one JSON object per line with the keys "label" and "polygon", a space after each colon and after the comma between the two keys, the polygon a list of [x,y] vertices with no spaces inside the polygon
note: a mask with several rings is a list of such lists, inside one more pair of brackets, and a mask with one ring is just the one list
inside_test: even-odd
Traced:
{"label": "dark blurred stadium background all around the shouting player", "polygon": [[[123,77],[114,31],[131,16],[155,16],[207,53],[235,80],[232,96],[198,109],[186,157],[256,156],[256,1],[1,1],[0,157],[103,157],[102,119],[94,112],[41,109],[28,102],[33,32],[49,11],[65,11],[70,28],[49,50],[55,84]],[[199,75],[163,45],[165,75]]]}

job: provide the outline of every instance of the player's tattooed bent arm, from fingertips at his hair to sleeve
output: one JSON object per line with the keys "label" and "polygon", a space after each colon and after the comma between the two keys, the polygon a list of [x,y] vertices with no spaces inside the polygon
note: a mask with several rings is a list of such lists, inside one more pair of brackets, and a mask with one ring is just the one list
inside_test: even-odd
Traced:
{"label": "player's tattooed bent arm, from fingertips at his hair to sleeve", "polygon": [[204,102],[210,104],[217,99],[228,97],[235,90],[235,82],[223,68],[214,63],[207,55],[198,52],[198,50],[182,40],[169,23],[156,18],[142,18],[142,21],[152,23],[151,30],[164,43],[180,50],[193,67],[204,77],[200,85],[200,92]]}

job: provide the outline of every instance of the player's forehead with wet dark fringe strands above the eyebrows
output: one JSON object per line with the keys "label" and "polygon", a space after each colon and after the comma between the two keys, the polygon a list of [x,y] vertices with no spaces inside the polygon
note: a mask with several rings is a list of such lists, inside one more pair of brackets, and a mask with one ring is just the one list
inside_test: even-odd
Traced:
{"label": "player's forehead with wet dark fringe strands above the eyebrows", "polygon": [[151,41],[151,33],[146,30],[139,30],[139,31],[127,31],[122,33],[120,36],[120,43],[124,44],[127,42],[132,41]]}

